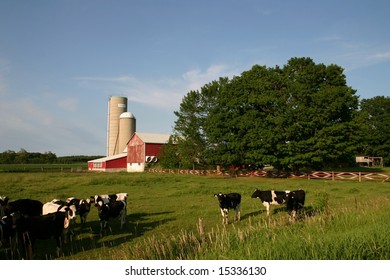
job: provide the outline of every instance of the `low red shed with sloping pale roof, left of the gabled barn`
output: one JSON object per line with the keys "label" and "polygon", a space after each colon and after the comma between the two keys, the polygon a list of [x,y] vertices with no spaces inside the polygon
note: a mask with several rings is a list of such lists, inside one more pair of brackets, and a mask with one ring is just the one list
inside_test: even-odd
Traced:
{"label": "low red shed with sloping pale roof, left of the gabled barn", "polygon": [[127,153],[98,158],[88,161],[89,171],[117,172],[126,171]]}

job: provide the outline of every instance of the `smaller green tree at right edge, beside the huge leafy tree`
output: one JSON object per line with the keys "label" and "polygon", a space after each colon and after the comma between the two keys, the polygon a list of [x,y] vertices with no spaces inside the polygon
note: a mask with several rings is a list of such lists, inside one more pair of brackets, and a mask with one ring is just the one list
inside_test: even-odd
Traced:
{"label": "smaller green tree at right edge, beside the huge leafy tree", "polygon": [[358,151],[362,155],[384,158],[390,165],[390,97],[376,96],[363,99],[359,115]]}

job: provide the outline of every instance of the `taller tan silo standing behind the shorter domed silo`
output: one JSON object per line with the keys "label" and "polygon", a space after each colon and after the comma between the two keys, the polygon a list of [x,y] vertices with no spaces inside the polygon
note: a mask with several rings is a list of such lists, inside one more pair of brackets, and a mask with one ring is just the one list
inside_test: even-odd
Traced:
{"label": "taller tan silo standing behind the shorter domed silo", "polygon": [[108,100],[107,156],[119,153],[119,116],[127,111],[127,98],[111,96]]}

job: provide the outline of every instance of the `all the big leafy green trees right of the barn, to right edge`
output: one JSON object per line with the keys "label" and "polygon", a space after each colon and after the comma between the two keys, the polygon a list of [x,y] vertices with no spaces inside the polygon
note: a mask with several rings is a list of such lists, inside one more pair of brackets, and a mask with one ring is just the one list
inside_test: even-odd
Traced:
{"label": "all the big leafy green trees right of the barn, to right edge", "polygon": [[320,170],[354,165],[356,155],[390,164],[390,98],[359,100],[342,67],[311,58],[221,77],[188,92],[174,113],[166,168]]}

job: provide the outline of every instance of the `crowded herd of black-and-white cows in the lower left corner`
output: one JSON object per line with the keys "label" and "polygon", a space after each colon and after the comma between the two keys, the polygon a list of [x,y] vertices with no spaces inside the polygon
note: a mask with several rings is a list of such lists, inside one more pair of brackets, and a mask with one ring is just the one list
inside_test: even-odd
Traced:
{"label": "crowded herd of black-and-white cows in the lower left corner", "polygon": [[[37,239],[54,238],[57,256],[66,242],[70,224],[76,217],[84,224],[94,203],[100,220],[100,234],[106,232],[110,218],[120,218],[121,228],[126,222],[127,193],[95,195],[87,199],[69,197],[66,200],[53,199],[42,203],[34,199],[10,201],[0,196],[0,247],[2,242],[16,240],[21,244],[22,255],[32,258]],[[12,246],[12,245],[11,245]]]}

